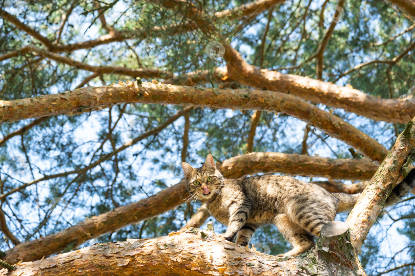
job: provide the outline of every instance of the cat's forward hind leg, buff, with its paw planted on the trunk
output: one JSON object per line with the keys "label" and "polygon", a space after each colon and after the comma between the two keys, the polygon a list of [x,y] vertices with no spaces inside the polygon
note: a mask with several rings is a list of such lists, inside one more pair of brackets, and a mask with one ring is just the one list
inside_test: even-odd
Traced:
{"label": "cat's forward hind leg, buff, with its paw planted on the trunk", "polygon": [[298,255],[314,246],[313,236],[300,225],[293,222],[286,214],[275,216],[273,223],[284,238],[293,246],[293,249],[279,256]]}

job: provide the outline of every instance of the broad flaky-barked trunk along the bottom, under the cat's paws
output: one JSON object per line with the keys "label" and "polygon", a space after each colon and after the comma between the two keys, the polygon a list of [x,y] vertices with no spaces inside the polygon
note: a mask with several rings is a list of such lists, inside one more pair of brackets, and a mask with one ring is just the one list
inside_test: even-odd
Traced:
{"label": "broad flaky-barked trunk along the bottom, under the cat's paws", "polygon": [[[278,258],[239,246],[210,231],[98,243],[44,260],[17,264],[0,275],[357,275],[347,232],[322,237],[300,256]],[[364,275],[364,273],[359,273]]]}

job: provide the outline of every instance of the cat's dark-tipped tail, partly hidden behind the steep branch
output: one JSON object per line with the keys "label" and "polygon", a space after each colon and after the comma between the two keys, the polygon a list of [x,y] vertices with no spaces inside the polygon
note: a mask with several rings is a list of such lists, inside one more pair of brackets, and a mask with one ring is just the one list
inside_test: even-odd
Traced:
{"label": "cat's dark-tipped tail, partly hidden behind the steep branch", "polygon": [[[386,199],[385,207],[398,203],[415,187],[415,169],[412,169],[406,177],[392,190]],[[349,195],[345,193],[333,193],[339,200],[338,212],[349,212],[355,205],[360,194]]]}

